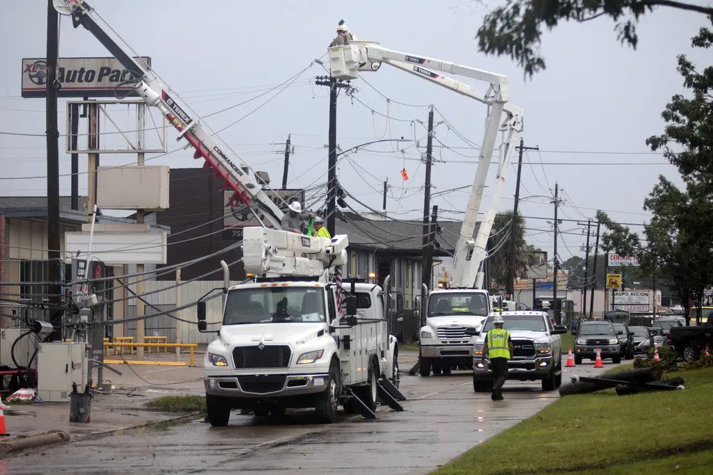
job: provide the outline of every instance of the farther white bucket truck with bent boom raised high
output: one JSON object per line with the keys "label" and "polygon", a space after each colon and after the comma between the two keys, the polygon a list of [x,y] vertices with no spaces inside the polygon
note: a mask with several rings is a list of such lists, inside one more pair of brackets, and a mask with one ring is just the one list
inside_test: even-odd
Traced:
{"label": "farther white bucket truck with bent boom raised high", "polygon": [[[452,369],[471,368],[471,336],[469,328],[480,329],[483,320],[493,310],[491,298],[483,289],[482,266],[487,259],[486,244],[495,219],[498,202],[505,179],[510,169],[514,144],[523,130],[523,110],[508,103],[508,83],[504,75],[481,69],[461,66],[448,61],[427,58],[411,53],[386,49],[375,41],[349,41],[344,46],[329,48],[329,67],[337,79],[354,80],[359,72],[379,71],[381,64],[394,66],[436,83],[443,88],[475,99],[488,106],[485,135],[481,144],[476,177],[463,216],[461,233],[453,254],[452,280],[449,288],[422,291],[419,316],[422,327],[419,331],[419,371],[421,376],[449,374]],[[487,83],[485,90],[478,90],[466,83],[442,73],[462,75]],[[504,116],[504,117],[503,117]],[[496,183],[493,186],[491,204],[476,230],[476,218],[481,207],[488,168],[493,157],[498,131],[505,132],[500,145]]]}

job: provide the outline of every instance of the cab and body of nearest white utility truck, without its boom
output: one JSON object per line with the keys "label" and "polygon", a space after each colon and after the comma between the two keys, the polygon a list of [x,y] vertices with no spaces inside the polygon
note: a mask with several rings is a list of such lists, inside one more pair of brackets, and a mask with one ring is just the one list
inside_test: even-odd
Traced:
{"label": "cab and body of nearest white utility truck, without its boom", "polygon": [[[332,423],[338,404],[368,417],[364,407],[373,414],[380,399],[395,407],[384,391],[404,400],[394,391],[399,348],[387,333],[381,288],[352,288],[341,319],[334,283],[277,279],[227,289],[218,338],[203,362],[210,424],[227,425],[232,409],[260,417],[304,407]],[[205,331],[205,301],[198,321]]]}

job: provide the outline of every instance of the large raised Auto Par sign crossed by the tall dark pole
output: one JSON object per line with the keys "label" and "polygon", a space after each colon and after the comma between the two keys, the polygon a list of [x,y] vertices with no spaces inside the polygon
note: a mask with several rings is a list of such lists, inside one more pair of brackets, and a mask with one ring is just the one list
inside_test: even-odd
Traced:
{"label": "large raised Auto Par sign crossed by the tall dark pole", "polygon": [[[151,58],[134,58],[139,64],[151,66]],[[23,58],[22,97],[46,97],[47,61],[44,58]],[[61,85],[57,95],[61,98],[113,98],[114,89],[134,75],[116,58],[59,58],[57,79]],[[121,90],[131,90],[131,85],[121,85]]]}

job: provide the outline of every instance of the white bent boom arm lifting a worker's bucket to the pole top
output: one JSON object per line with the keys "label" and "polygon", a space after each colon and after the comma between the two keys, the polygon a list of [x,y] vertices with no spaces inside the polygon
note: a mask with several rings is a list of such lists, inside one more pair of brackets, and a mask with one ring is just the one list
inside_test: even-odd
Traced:
{"label": "white bent boom arm lifting a worker's bucket to the pole top", "polygon": [[[513,147],[520,139],[520,133],[523,130],[523,110],[508,104],[508,80],[506,76],[501,74],[461,66],[448,61],[391,51],[382,48],[373,41],[351,41],[347,46],[329,48],[330,71],[332,76],[337,79],[359,78],[359,71],[377,71],[381,63],[389,64],[419,78],[436,83],[443,88],[478,100],[478,102],[488,105],[490,109],[486,121],[485,135],[481,144],[481,153],[480,157],[478,157],[473,189],[468,199],[466,214],[463,216],[463,226],[461,226],[461,234],[458,238],[458,244],[456,244],[456,252],[453,254],[453,273],[451,276],[453,286],[480,288],[483,283],[483,273],[480,268],[483,261],[487,259],[486,246],[488,237],[491,229],[493,229],[498,202],[505,188],[505,179],[510,169]],[[489,83],[489,86],[486,90],[476,90],[476,88],[466,83],[436,73],[434,70],[482,80]],[[506,114],[504,120],[503,113]],[[488,168],[491,165],[493,148],[495,147],[499,130],[504,130],[507,135],[500,145],[498,173],[496,175],[496,184],[493,187],[493,197],[490,207],[488,207],[478,228],[478,235],[476,239],[473,239],[478,209],[480,209],[481,201],[483,200],[483,189],[485,189]]]}

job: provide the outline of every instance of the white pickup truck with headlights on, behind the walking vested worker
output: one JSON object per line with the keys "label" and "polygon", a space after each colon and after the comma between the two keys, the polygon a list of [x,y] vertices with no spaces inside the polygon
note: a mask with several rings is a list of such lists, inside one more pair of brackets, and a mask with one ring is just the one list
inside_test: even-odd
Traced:
{"label": "white pickup truck with headlights on, behind the walking vested worker", "polygon": [[483,322],[481,331],[470,330],[473,340],[473,390],[488,391],[493,386],[490,360],[481,362],[486,334],[494,328],[493,318],[500,315],[505,320],[503,328],[510,332],[515,355],[508,360],[508,380],[542,381],[543,391],[554,391],[562,384],[562,340],[567,333],[563,325],[553,325],[546,312],[519,310],[493,312]]}

